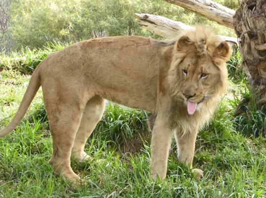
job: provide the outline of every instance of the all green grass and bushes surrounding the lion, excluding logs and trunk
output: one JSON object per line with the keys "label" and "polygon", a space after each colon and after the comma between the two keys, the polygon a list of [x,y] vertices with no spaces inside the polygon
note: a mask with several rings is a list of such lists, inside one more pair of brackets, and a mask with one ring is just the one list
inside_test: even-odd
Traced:
{"label": "all green grass and bushes surrounding the lion, excluding logs and trunk", "polygon": [[[218,2],[238,7],[237,0]],[[7,14],[0,12],[0,21],[7,22],[6,26],[0,23],[0,128],[17,111],[30,74],[53,51],[100,36],[162,39],[138,28],[135,12],[189,25],[201,22],[221,35],[234,35],[162,0],[0,0],[3,9]],[[266,115],[254,99],[240,62],[238,52],[228,61],[228,92],[213,120],[198,134],[193,164],[205,172],[203,179],[197,181],[178,163],[173,140],[167,178],[154,183],[149,176],[149,115],[109,103],[86,146],[93,158],[71,162],[88,185],[82,190],[71,188],[62,176],[55,177],[48,164],[52,140],[39,90],[23,121],[0,139],[0,198],[266,197]]]}

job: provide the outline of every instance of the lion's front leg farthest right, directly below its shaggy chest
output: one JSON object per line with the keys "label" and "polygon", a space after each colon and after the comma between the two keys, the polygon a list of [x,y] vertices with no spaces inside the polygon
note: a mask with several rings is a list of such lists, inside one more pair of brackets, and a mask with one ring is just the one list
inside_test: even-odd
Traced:
{"label": "lion's front leg farthest right, directly below its shaggy chest", "polygon": [[[175,131],[175,138],[177,141],[178,160],[192,168],[197,130],[188,131],[185,134],[177,130]],[[201,178],[204,175],[203,171],[197,168],[193,169],[192,172],[196,174],[197,178]]]}

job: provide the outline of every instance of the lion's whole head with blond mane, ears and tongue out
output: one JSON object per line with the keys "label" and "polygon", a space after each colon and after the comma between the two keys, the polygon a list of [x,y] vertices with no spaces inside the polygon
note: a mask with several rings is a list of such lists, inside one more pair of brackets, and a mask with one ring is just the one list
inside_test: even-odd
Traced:
{"label": "lion's whole head with blond mane, ears and tongue out", "polygon": [[[206,122],[227,87],[225,62],[231,55],[226,42],[206,27],[181,33],[168,74],[172,95],[193,117]],[[204,119],[205,117],[205,119]]]}

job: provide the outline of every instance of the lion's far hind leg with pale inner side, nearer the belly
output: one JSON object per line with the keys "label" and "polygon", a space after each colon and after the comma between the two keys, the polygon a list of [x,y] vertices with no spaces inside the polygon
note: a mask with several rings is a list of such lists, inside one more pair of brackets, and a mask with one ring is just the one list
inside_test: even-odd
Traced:
{"label": "lion's far hind leg with pale inner side, nearer the belly", "polygon": [[78,161],[89,158],[89,155],[84,151],[84,147],[93,129],[102,117],[105,108],[104,101],[101,97],[94,96],[86,104],[71,153]]}

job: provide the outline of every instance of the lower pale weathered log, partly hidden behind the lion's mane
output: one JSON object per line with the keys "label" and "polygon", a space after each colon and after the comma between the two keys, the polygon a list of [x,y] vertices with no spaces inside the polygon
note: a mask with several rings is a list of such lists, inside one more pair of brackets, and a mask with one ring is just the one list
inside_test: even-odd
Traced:
{"label": "lower pale weathered log, partly hidden behind the lion's mane", "polygon": [[[156,16],[152,14],[137,14],[135,18],[138,19],[138,25],[154,34],[158,34],[167,39],[177,38],[179,32],[184,29],[191,28],[189,25],[184,23],[173,21],[163,16]],[[220,36],[223,41],[228,42],[232,48],[237,45],[237,38]]]}

